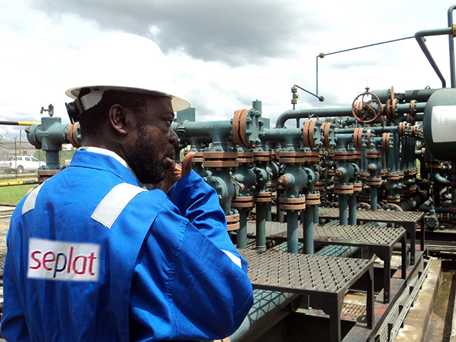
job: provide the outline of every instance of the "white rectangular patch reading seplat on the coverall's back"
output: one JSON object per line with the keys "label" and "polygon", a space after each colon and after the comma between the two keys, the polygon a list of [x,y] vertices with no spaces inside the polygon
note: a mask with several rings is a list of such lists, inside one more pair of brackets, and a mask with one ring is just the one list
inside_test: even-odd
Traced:
{"label": "white rectangular patch reading seplat on the coverall's back", "polygon": [[99,244],[28,240],[28,278],[98,281],[99,261]]}

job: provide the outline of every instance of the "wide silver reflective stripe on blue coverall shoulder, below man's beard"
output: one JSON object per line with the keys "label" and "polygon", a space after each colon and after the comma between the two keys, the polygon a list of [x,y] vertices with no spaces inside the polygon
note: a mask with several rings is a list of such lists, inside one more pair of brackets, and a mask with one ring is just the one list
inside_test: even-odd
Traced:
{"label": "wide silver reflective stripe on blue coverall shoulder, below man's beard", "polygon": [[118,218],[127,204],[140,192],[146,191],[142,187],[121,183],[113,187],[108,195],[102,199],[98,207],[96,207],[91,218],[100,222],[105,227],[112,227],[115,220]]}

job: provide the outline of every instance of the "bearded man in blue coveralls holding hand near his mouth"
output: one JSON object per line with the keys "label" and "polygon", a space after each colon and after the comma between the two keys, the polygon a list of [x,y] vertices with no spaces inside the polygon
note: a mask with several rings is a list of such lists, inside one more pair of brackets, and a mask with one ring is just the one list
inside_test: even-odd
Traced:
{"label": "bearded man in blue coveralls holding hand near his mouth", "polygon": [[[252,306],[252,284],[216,192],[190,170],[191,155],[180,175],[172,161],[177,135],[170,126],[182,99],[157,89],[72,91],[85,147],[11,217],[4,337],[231,335]],[[160,182],[163,191],[140,187]]]}

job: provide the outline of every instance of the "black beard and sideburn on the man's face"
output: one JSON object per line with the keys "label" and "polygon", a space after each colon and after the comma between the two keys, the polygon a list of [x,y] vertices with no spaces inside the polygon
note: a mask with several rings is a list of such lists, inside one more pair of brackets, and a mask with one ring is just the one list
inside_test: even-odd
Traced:
{"label": "black beard and sideburn on the man's face", "polygon": [[[138,134],[147,136],[144,125],[138,125]],[[133,150],[126,151],[126,154],[128,165],[140,182],[156,184],[165,179],[165,169],[162,161],[155,159],[157,147],[151,139],[136,140]]]}

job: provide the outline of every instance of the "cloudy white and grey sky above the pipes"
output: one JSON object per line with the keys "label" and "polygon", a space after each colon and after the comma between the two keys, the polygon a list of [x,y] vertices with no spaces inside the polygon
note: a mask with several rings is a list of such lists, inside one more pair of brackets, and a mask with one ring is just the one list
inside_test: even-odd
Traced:
{"label": "cloudy white and grey sky above the pipes", "polygon": [[[65,95],[77,56],[106,33],[156,41],[197,110],[229,120],[263,102],[271,125],[291,109],[290,88],[316,91],[316,56],[447,27],[455,0],[2,0],[0,120],[39,121],[52,103],[68,122]],[[456,22],[456,20],[455,20]],[[427,46],[450,83],[447,36]],[[76,85],[78,86],[78,85]],[[348,107],[367,87],[440,88],[415,39],[318,58],[318,93],[296,108]],[[19,128],[0,126],[0,134]],[[21,128],[24,129],[24,128]]]}

